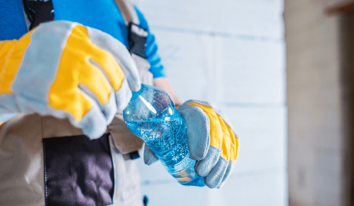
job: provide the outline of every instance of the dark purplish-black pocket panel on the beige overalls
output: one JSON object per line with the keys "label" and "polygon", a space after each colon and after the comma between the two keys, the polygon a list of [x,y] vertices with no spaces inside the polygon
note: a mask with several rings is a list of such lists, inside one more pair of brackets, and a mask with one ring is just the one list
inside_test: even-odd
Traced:
{"label": "dark purplish-black pocket panel on the beige overalls", "polygon": [[43,139],[47,206],[112,204],[113,166],[108,134]]}

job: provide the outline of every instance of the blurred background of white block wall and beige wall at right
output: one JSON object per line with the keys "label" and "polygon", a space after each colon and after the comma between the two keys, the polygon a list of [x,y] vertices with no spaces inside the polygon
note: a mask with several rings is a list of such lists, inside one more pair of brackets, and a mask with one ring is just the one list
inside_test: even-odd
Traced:
{"label": "blurred background of white block wall and beige wall at right", "polygon": [[353,205],[353,1],[132,2],[179,98],[216,104],[240,140],[222,189],[140,158],[149,206]]}

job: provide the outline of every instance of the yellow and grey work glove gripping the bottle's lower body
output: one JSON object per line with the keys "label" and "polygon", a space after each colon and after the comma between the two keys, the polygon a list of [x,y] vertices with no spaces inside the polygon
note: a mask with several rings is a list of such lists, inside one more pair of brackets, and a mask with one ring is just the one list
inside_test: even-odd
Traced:
{"label": "yellow and grey work glove gripping the bottle's lower body", "polygon": [[[227,117],[207,101],[188,100],[177,108],[187,125],[189,157],[194,170],[210,188],[220,188],[233,171],[239,140]],[[144,162],[158,158],[144,147]]]}

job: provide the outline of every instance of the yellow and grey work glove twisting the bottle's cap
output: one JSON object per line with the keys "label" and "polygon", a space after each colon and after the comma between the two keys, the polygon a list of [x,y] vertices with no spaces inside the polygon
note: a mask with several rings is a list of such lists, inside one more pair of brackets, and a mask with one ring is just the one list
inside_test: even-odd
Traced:
{"label": "yellow and grey work glove twisting the bottle's cap", "polygon": [[68,117],[94,139],[140,87],[126,47],[94,28],[52,21],[0,41],[0,122],[16,113]]}

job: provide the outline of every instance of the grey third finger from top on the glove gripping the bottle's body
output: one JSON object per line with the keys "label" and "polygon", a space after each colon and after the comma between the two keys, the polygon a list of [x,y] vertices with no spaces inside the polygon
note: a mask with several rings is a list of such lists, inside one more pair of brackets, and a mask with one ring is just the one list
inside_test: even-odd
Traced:
{"label": "grey third finger from top on the glove gripping the bottle's body", "polygon": [[215,167],[210,171],[209,175],[204,177],[204,182],[209,188],[216,188],[222,182],[226,173],[229,161],[220,157]]}

